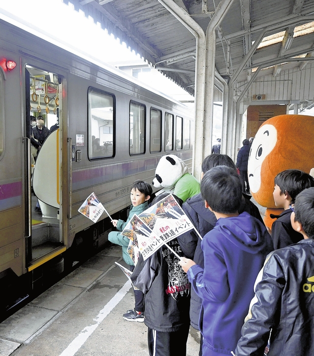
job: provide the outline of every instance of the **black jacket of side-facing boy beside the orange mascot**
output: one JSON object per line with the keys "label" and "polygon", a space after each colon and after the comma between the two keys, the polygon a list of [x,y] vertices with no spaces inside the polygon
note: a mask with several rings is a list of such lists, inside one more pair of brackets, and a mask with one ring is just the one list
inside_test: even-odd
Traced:
{"label": "black jacket of side-facing boy beside the orange mascot", "polygon": [[271,218],[278,218],[271,226],[271,238],[274,249],[286,247],[303,240],[303,235],[293,230],[290,222],[292,210],[282,211],[280,215],[270,214]]}

